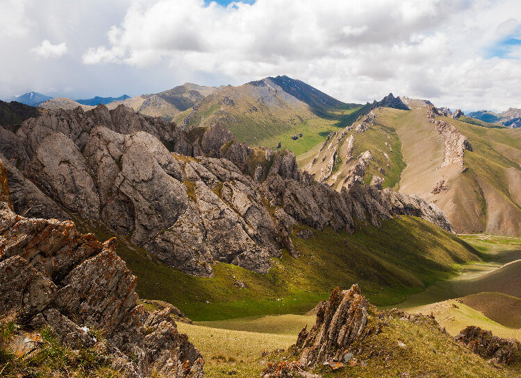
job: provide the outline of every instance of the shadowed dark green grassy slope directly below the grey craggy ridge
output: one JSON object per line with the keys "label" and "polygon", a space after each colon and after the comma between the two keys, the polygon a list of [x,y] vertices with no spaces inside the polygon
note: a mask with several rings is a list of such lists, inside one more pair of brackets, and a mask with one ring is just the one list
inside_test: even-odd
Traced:
{"label": "shadowed dark green grassy slope directly below the grey craggy ridge", "polygon": [[[361,226],[355,234],[313,232],[312,239],[292,238],[301,257],[284,252],[267,275],[217,264],[215,277],[193,277],[157,264],[122,241],[117,252],[138,276],[142,298],[171,302],[193,320],[305,313],[335,286],[354,282],[377,304],[402,302],[423,285],[454,275],[455,263],[479,258],[454,235],[408,216],[385,221],[382,227]],[[110,235],[98,230],[97,236]],[[239,289],[235,280],[247,287]]]}

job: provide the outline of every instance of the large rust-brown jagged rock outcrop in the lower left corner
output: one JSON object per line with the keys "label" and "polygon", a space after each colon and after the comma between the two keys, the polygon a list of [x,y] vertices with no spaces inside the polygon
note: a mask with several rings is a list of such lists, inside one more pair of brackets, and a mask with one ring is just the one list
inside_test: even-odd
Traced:
{"label": "large rust-brown jagged rock outcrop in the lower left corner", "polygon": [[36,332],[47,325],[69,347],[112,356],[129,377],[203,377],[201,354],[169,309],[146,311],[135,283],[113,240],[102,244],[70,221],[23,218],[0,203],[0,316],[17,311]]}

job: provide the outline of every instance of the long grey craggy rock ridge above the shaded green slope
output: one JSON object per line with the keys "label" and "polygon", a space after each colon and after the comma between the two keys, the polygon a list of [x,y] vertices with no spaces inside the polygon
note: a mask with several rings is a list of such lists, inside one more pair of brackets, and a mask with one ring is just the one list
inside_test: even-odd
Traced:
{"label": "long grey craggy rock ridge above the shaded green slope", "polygon": [[192,275],[211,277],[216,261],[267,273],[281,248],[298,254],[296,222],[354,232],[355,218],[410,214],[452,231],[420,198],[358,184],[333,191],[301,173],[293,153],[249,148],[218,124],[185,132],[99,105],[0,131],[15,212],[102,225]]}

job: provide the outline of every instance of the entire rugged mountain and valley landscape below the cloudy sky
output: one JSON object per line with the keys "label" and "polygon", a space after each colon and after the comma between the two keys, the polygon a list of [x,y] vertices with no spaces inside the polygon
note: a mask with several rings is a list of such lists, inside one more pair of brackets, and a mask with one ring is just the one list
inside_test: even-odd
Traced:
{"label": "entire rugged mountain and valley landscape below the cloudy sky", "polygon": [[0,102],[0,375],[518,377],[518,113],[288,76]]}

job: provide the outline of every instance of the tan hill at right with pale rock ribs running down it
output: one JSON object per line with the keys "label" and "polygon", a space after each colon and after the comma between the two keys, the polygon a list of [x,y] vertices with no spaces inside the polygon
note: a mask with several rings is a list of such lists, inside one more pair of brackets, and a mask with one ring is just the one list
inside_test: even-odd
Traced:
{"label": "tan hill at right with pale rock ribs running down it", "polygon": [[459,233],[520,235],[520,130],[402,100],[410,110],[360,114],[299,155],[299,166],[337,190],[359,181],[417,194],[436,203]]}

